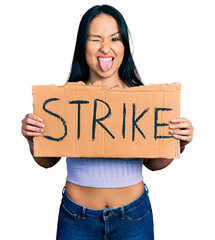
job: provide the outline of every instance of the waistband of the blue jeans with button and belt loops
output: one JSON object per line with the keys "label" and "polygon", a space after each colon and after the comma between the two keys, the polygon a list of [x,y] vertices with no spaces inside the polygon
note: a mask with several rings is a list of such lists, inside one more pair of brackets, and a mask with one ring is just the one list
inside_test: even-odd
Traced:
{"label": "waistband of the blue jeans with button and belt loops", "polygon": [[148,188],[146,184],[144,184],[142,194],[137,199],[124,206],[118,208],[105,208],[105,209],[92,209],[79,205],[78,203],[74,202],[72,199],[69,198],[69,196],[66,193],[65,187],[63,189],[62,194],[63,194],[62,203],[66,205],[68,210],[75,211],[76,213],[80,214],[82,218],[85,218],[85,216],[93,217],[103,216],[104,218],[110,217],[110,215],[111,216],[121,215],[122,217],[124,217],[124,214],[134,210],[146,200],[148,196]]}

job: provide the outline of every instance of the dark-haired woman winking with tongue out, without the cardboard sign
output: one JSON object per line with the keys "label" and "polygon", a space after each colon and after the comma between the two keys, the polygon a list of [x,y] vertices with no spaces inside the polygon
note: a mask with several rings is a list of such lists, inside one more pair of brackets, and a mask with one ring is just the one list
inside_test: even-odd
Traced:
{"label": "dark-haired woman winking with tongue out, without the cardboard sign", "polygon": [[[103,89],[143,85],[130,52],[123,16],[108,5],[95,6],[83,16],[74,52],[70,82]],[[193,127],[185,118],[173,119],[171,134],[181,140],[181,150],[192,141]],[[41,135],[42,119],[27,114],[22,134],[33,153],[33,137]],[[42,167],[60,158],[34,157]],[[67,181],[60,206],[57,239],[154,239],[148,190],[142,165],[151,170],[173,159],[67,158]]]}

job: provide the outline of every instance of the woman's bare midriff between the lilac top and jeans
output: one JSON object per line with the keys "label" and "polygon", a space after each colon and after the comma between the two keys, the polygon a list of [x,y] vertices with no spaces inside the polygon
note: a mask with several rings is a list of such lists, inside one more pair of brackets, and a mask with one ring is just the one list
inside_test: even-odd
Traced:
{"label": "woman's bare midriff between the lilac top and jeans", "polygon": [[143,181],[121,188],[92,188],[66,182],[66,193],[75,203],[92,209],[118,208],[137,199],[143,192]]}

